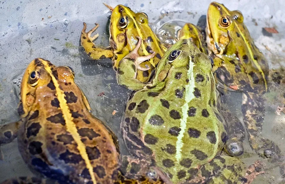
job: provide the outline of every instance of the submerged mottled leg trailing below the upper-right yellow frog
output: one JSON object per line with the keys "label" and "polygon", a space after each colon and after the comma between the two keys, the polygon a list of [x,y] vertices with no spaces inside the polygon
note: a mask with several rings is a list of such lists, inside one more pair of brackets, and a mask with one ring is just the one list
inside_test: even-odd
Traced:
{"label": "submerged mottled leg trailing below the upper-right yellow frog", "polygon": [[252,149],[259,156],[270,158],[271,162],[282,162],[283,156],[281,155],[279,147],[260,134],[265,117],[265,103],[263,97],[257,94],[243,93],[242,113]]}

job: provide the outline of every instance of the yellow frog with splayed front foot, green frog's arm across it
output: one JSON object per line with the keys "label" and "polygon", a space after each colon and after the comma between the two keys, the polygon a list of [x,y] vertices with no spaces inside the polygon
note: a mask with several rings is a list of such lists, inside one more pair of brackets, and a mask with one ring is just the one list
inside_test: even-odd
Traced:
{"label": "yellow frog with splayed front foot, green frog's arm across it", "polygon": [[[131,90],[142,89],[145,83],[149,82],[152,72],[167,49],[148,25],[147,14],[135,13],[124,5],[109,8],[112,11],[109,25],[110,47],[97,47],[93,43],[99,35],[92,37],[91,34],[99,27],[99,24],[86,33],[86,23],[83,23],[80,43],[93,60],[112,58],[112,66],[119,85]],[[125,59],[127,62],[123,62],[122,59],[128,59],[126,56],[137,45],[136,37],[143,40],[137,52],[141,57],[136,57],[135,61]]]}

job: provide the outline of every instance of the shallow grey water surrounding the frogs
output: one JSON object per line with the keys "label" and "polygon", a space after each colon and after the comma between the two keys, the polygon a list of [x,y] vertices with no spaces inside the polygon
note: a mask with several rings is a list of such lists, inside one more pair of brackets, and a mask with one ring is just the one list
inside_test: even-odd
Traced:
{"label": "shallow grey water surrounding the frogs", "polygon": [[[282,0],[259,0],[256,3],[246,0],[218,2],[224,3],[230,10],[239,9],[243,13],[246,26],[257,47],[266,55],[271,69],[285,66],[285,13],[283,12],[285,4]],[[157,30],[169,20],[184,20],[196,24],[199,18],[205,15],[210,1],[145,1],[143,4],[106,1],[106,3],[113,7],[124,4],[136,12],[147,13],[153,29]],[[80,1],[80,3],[78,1],[0,1],[0,124],[19,119],[17,81],[20,80],[26,66],[34,58],[41,57],[56,66],[71,66],[75,70],[75,82],[87,96],[93,115],[104,120],[113,129],[118,135],[121,153],[127,154],[120,137],[119,125],[125,101],[131,91],[117,85],[110,60],[95,63],[79,45],[84,21],[88,30],[94,26],[94,23],[100,24],[96,31],[100,34],[96,44],[107,46],[108,38],[105,31],[107,14],[108,9],[97,1],[96,4],[94,1]],[[262,27],[273,26],[276,26],[278,34],[272,36],[262,34]],[[284,85],[279,88],[285,89]],[[104,98],[98,96],[101,92],[105,92]],[[230,95],[231,99],[234,99],[230,101],[230,110],[237,112],[236,115],[242,120],[241,94]],[[273,140],[284,152],[285,115],[282,113],[281,116],[276,115],[278,98],[275,98],[274,94],[268,96],[270,98],[266,104],[267,113],[261,134]],[[118,112],[112,115],[113,110]],[[247,139],[244,147],[245,153],[242,157],[248,165],[261,159],[268,167],[272,167],[266,174],[258,176],[254,183],[277,183],[280,177],[279,168],[258,158],[249,147]],[[1,150],[4,159],[0,161],[0,182],[11,177],[31,175],[20,156],[16,140],[2,145]]]}

